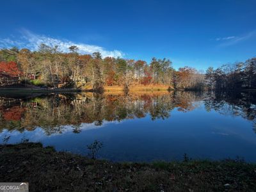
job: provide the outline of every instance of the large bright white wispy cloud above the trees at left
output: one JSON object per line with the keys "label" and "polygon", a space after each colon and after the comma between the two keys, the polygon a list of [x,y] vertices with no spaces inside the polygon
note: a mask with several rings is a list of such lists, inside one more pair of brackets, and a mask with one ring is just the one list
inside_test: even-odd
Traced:
{"label": "large bright white wispy cloud above the trees at left", "polygon": [[52,38],[51,36],[38,35],[27,29],[22,29],[20,31],[21,37],[18,40],[12,40],[10,38],[0,38],[0,45],[3,47],[13,47],[17,46],[19,48],[26,47],[31,49],[32,51],[36,51],[40,44],[45,44],[49,46],[58,45],[58,48],[62,52],[68,52],[71,45],[76,45],[79,49],[79,53],[81,54],[92,54],[93,52],[100,52],[102,56],[105,58],[107,56],[111,57],[123,57],[124,53],[122,51],[113,50],[108,51],[103,47],[97,45],[88,45],[83,43],[72,42],[70,40],[65,40],[61,38]]}

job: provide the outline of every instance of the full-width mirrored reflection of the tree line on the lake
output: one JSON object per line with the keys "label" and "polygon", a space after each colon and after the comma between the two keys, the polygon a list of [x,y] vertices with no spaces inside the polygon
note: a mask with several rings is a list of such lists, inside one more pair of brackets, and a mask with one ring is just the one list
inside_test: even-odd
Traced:
{"label": "full-width mirrored reflection of the tree line on the lake", "polygon": [[206,111],[241,116],[256,125],[256,93],[152,92],[49,94],[38,97],[0,97],[0,132],[44,129],[45,134],[61,133],[71,125],[74,133],[81,124],[102,125],[134,118],[172,118],[172,110],[188,112],[204,101]]}

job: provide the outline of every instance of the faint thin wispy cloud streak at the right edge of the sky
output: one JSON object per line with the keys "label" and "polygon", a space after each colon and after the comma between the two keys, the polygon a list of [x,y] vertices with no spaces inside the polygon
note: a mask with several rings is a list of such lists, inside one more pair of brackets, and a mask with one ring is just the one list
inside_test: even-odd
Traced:
{"label": "faint thin wispy cloud streak at the right edge of the sky", "polygon": [[221,41],[220,47],[228,47],[230,45],[235,45],[240,42],[244,42],[256,36],[256,30],[250,31],[241,36],[228,36],[224,38],[216,38],[216,41]]}

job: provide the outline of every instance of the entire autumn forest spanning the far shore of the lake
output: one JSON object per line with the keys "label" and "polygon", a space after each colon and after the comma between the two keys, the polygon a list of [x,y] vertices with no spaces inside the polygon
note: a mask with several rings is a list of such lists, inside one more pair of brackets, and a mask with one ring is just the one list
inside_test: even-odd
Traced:
{"label": "entire autumn forest spanning the far shore of the lake", "polygon": [[61,52],[58,46],[41,44],[37,51],[29,49],[0,50],[0,86],[36,86],[40,88],[80,88],[104,90],[118,86],[166,86],[182,90],[234,90],[256,88],[256,58],[225,64],[205,72],[193,67],[175,70],[172,61],[152,58],[143,60],[102,58],[100,52],[79,54],[76,46]]}

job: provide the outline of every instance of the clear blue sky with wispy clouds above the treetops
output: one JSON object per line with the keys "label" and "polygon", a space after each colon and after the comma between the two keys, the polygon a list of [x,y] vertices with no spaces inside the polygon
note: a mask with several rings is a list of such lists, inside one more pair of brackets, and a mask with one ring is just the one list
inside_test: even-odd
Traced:
{"label": "clear blue sky with wispy clouds above the treetops", "polygon": [[256,56],[256,1],[1,1],[0,47],[58,44],[173,66],[218,67]]}

